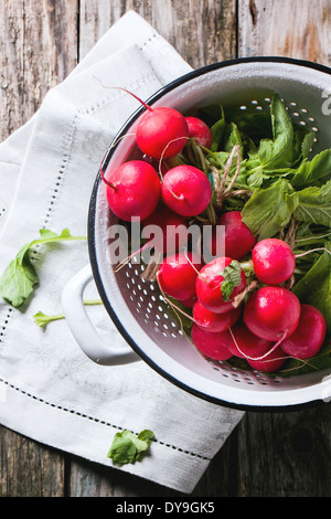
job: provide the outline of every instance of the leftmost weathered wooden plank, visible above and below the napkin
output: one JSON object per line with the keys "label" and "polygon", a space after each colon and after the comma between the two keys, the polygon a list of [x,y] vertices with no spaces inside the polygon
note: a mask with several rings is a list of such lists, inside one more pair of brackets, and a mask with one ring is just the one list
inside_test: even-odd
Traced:
{"label": "leftmost weathered wooden plank, visible above and below the napkin", "polygon": [[[77,0],[0,2],[0,139],[77,63]],[[0,427],[0,496],[58,497],[64,456]]]}

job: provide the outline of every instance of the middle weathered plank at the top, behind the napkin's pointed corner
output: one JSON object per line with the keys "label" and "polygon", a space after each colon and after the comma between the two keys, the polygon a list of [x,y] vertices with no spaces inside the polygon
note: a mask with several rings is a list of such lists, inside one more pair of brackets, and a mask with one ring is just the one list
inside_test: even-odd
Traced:
{"label": "middle weathered plank at the top, behind the napkin's pointed corner", "polygon": [[235,0],[82,0],[79,57],[128,10],[135,10],[196,68],[236,54]]}

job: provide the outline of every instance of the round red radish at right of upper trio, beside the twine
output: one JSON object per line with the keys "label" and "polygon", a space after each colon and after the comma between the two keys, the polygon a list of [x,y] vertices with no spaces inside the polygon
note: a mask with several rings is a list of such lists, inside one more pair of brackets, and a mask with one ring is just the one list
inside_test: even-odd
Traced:
{"label": "round red radish at right of upper trio, beside the twine", "polygon": [[202,213],[212,198],[212,187],[203,171],[194,166],[177,166],[163,176],[161,197],[166,205],[183,216]]}

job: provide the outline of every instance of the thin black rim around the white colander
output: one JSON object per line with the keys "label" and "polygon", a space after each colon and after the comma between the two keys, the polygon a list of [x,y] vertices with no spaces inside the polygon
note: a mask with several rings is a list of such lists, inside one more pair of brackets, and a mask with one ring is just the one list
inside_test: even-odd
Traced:
{"label": "thin black rim around the white colander", "polygon": [[[149,105],[152,105],[156,103],[158,99],[160,99],[164,94],[171,92],[173,88],[182,85],[183,83],[186,83],[195,77],[199,77],[200,75],[206,74],[209,72],[216,71],[218,68],[224,68],[227,66],[241,64],[241,63],[287,63],[287,64],[293,64],[298,66],[302,66],[303,68],[313,68],[319,72],[325,73],[331,75],[331,68],[321,65],[319,63],[313,63],[309,62],[306,60],[296,60],[291,57],[281,57],[281,56],[258,56],[258,57],[239,57],[239,59],[234,59],[234,60],[227,60],[223,62],[217,62],[213,63],[211,65],[203,66],[201,68],[196,68],[192,72],[189,72],[184,74],[183,76],[180,76],[179,78],[172,81],[171,83],[167,84],[166,86],[161,87],[159,91],[157,91],[153,95],[149,97],[147,103]],[[122,128],[117,133],[114,142],[119,142],[121,136],[124,136],[129,127],[135,123],[135,120],[142,114],[145,110],[143,107],[139,107],[125,123]],[[116,148],[118,145],[115,145],[114,147],[109,148],[108,151],[105,153],[104,160],[102,168],[105,170],[109,163],[110,158],[113,157]],[[124,339],[128,342],[128,345],[132,348],[132,350],[148,364],[150,366],[154,371],[157,371],[161,377],[167,379],[168,381],[172,382],[174,385],[178,388],[181,388],[182,390],[199,396],[205,401],[209,401],[211,403],[215,403],[217,405],[222,405],[224,407],[229,407],[229,409],[235,409],[235,410],[243,410],[243,411],[259,411],[259,412],[285,412],[285,411],[298,411],[299,409],[306,409],[306,407],[312,407],[317,405],[325,405],[325,402],[322,400],[316,400],[307,403],[299,403],[299,404],[292,404],[292,405],[277,405],[277,406],[266,406],[266,405],[257,405],[257,404],[237,404],[228,401],[224,401],[220,398],[211,396],[206,393],[200,392],[195,390],[194,388],[191,388],[190,385],[183,383],[182,381],[178,380],[174,378],[172,374],[170,374],[168,371],[166,371],[163,368],[160,368],[156,362],[153,362],[142,350],[141,348],[137,345],[135,341],[135,338],[131,337],[126,328],[124,327],[122,322],[118,318],[117,314],[115,313],[104,287],[103,284],[103,278],[98,268],[97,264],[97,257],[96,257],[96,246],[95,246],[95,220],[96,220],[96,204],[97,204],[97,192],[99,184],[102,182],[100,174],[98,171],[96,181],[93,187],[93,192],[90,197],[90,202],[89,202],[89,210],[88,210],[88,222],[87,222],[87,233],[88,233],[88,253],[89,253],[89,261],[90,261],[90,266],[92,266],[92,272],[94,276],[94,280],[96,284],[96,287],[99,292],[100,298],[104,303],[104,306],[110,316],[113,322],[117,327],[118,331],[121,333]]]}

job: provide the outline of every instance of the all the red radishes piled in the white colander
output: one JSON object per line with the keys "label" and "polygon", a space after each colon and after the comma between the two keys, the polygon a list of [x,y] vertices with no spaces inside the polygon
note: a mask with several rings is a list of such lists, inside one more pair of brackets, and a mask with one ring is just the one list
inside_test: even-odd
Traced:
{"label": "all the red radishes piled in the white colander", "polygon": [[[174,157],[192,137],[205,148],[211,146],[211,130],[201,119],[185,118],[172,108],[143,105],[147,110],[136,140],[146,157]],[[188,165],[170,168],[164,174],[160,171],[143,159],[125,162],[107,177],[102,171],[115,215],[127,222],[139,218],[167,231],[169,224],[175,229],[205,211],[212,187],[203,171]],[[194,252],[182,251],[180,237],[175,250],[167,250],[167,236],[160,243],[166,255],[157,280],[166,296],[192,309],[191,338],[196,349],[217,361],[246,359],[253,369],[264,372],[279,370],[288,357],[313,357],[323,345],[325,320],[317,308],[300,304],[287,288],[296,267],[291,247],[278,239],[257,242],[239,211],[225,212],[218,224],[225,229],[226,256],[206,264]],[[211,251],[214,245],[211,241]],[[245,292],[247,256],[250,276],[256,280],[250,294]],[[224,273],[234,261],[241,268],[239,279],[224,298]],[[245,297],[235,304],[243,294]]]}

